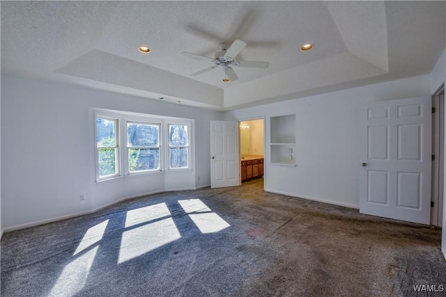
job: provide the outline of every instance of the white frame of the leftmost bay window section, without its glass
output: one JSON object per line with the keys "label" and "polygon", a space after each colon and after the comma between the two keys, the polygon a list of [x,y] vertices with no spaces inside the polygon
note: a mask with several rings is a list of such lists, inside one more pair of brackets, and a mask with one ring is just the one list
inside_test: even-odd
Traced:
{"label": "white frame of the leftmost bay window section, without its glass", "polygon": [[[110,147],[110,146],[105,146],[105,147],[98,147],[98,126],[97,126],[97,121],[98,119],[103,119],[103,120],[109,120],[109,121],[113,121],[114,125],[115,125],[115,146],[114,147]],[[112,179],[114,177],[119,177],[121,176],[121,137],[120,137],[120,118],[113,116],[113,115],[105,115],[105,113],[95,113],[95,170],[96,170],[96,181],[102,181],[102,180],[106,180],[106,179]],[[100,165],[99,165],[99,150],[101,148],[114,148],[115,150],[115,155],[114,155],[114,166],[115,166],[115,173],[114,175],[105,175],[105,176],[100,176]]]}

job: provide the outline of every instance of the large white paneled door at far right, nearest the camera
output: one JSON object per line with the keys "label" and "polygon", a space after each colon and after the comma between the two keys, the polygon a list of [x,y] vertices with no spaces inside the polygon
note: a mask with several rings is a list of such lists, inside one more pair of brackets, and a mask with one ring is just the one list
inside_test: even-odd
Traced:
{"label": "large white paneled door at far right, nearest the camera", "polygon": [[431,97],[375,102],[360,131],[360,213],[429,224]]}

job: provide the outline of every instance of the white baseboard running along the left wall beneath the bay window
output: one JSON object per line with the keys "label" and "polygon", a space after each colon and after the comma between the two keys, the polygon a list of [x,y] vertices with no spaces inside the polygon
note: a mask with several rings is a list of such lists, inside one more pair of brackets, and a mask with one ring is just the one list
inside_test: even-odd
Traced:
{"label": "white baseboard running along the left wall beneath the bay window", "polygon": [[[210,185],[207,185],[210,186]],[[132,196],[128,196],[125,198],[121,198],[118,200],[115,200],[113,202],[107,203],[105,205],[102,205],[101,207],[96,207],[95,209],[89,210],[89,211],[82,211],[76,214],[68,214],[66,216],[59,216],[56,218],[49,218],[46,220],[37,220],[35,222],[32,223],[25,223],[25,224],[21,224],[21,225],[15,225],[13,227],[8,227],[4,230],[1,230],[1,236],[3,236],[3,232],[11,232],[11,231],[15,231],[15,230],[20,230],[20,229],[24,229],[24,228],[29,228],[29,227],[36,227],[38,225],[44,225],[47,223],[53,223],[53,222],[57,222],[58,220],[66,220],[68,218],[76,218],[77,216],[84,216],[86,214],[93,214],[96,211],[100,211],[102,209],[105,209],[107,207],[111,207],[114,204],[123,202],[125,200],[129,200],[129,199],[134,199],[134,198],[139,198],[139,197],[144,197],[144,196],[148,196],[148,195],[153,195],[153,194],[158,194],[158,193],[165,193],[165,192],[178,192],[178,191],[190,191],[190,190],[198,190],[199,188],[206,188],[207,186],[200,186],[198,188],[174,188],[174,189],[168,189],[168,190],[163,190],[163,191],[153,191],[153,192],[148,192],[148,193],[143,193],[143,194],[139,194],[139,195],[132,195]],[[0,236],[0,238],[1,238]]]}

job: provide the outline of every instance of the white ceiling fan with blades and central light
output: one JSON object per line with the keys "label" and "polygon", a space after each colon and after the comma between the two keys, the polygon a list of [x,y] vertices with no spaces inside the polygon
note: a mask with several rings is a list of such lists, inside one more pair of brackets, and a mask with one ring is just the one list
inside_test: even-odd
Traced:
{"label": "white ceiling fan with blades and central light", "polygon": [[198,54],[192,54],[186,51],[183,51],[181,54],[186,56],[192,56],[195,58],[206,59],[215,64],[213,66],[200,70],[199,72],[192,73],[191,74],[192,77],[196,77],[199,74],[203,74],[220,66],[222,67],[225,73],[223,81],[229,82],[229,81],[236,81],[238,79],[236,72],[232,68],[233,66],[267,68],[270,65],[270,63],[268,62],[261,62],[261,61],[236,61],[235,60],[236,56],[238,56],[238,54],[240,54],[240,51],[242,51],[245,47],[246,47],[246,42],[243,42],[242,40],[236,40],[232,43],[229,49],[227,48],[226,43],[221,43],[220,44],[221,51],[215,54],[215,58],[210,58],[208,56],[201,56]]}

